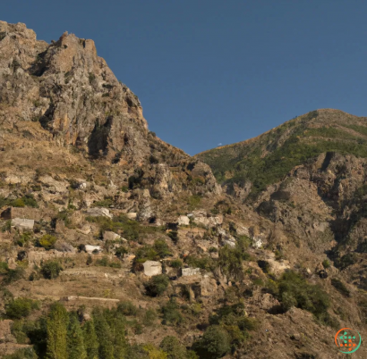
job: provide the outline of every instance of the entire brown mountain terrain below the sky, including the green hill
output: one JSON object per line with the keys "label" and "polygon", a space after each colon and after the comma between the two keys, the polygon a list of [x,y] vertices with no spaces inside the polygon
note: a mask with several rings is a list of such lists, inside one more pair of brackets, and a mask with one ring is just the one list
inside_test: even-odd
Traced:
{"label": "entire brown mountain terrain below the sky, including the green hill", "polygon": [[363,126],[319,110],[207,164],[92,40],[0,21],[0,357],[341,357],[367,336]]}

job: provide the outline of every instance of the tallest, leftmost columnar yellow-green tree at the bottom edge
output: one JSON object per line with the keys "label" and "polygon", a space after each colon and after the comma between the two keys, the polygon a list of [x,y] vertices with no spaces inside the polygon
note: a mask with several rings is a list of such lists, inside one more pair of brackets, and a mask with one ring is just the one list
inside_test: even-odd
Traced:
{"label": "tallest, leftmost columnar yellow-green tree at the bottom edge", "polygon": [[47,359],[67,359],[69,315],[64,305],[55,303],[47,316]]}

